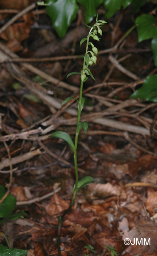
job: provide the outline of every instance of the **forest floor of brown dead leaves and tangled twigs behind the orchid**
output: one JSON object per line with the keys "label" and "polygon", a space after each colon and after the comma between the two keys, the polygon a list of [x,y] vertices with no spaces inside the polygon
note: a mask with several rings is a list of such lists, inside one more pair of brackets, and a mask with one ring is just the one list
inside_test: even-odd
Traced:
{"label": "forest floor of brown dead leaves and tangled twigs behind the orchid", "polygon": [[[2,9],[15,9],[14,0],[1,2]],[[16,1],[17,12],[27,4]],[[101,8],[98,13],[104,19]],[[14,15],[0,13],[2,27]],[[61,102],[78,97],[80,76],[66,76],[82,69],[82,59],[73,59],[85,53],[79,46],[88,35],[83,21],[80,12],[60,39],[39,8],[1,33],[0,184],[11,182],[13,213],[27,213],[1,225],[1,232],[27,256],[57,255],[58,217],[72,198],[72,150],[48,136],[61,130],[74,140],[77,104],[61,108]],[[119,11],[96,43],[96,81],[88,78],[83,87],[81,120],[88,131],[81,130],[78,142],[79,179],[92,176],[95,183],[78,191],[63,221],[63,256],[157,255],[157,103],[130,98],[156,69],[149,40],[138,43],[136,30],[123,39],[133,25],[130,9]],[[126,238],[150,238],[150,244],[128,246]]]}

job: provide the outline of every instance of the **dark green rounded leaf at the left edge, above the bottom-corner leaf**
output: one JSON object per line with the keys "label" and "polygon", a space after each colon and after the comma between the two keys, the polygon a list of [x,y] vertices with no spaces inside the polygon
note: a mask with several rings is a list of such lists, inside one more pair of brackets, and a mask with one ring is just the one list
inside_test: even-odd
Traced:
{"label": "dark green rounded leaf at the left edge, above the bottom-corner leaf", "polygon": [[[0,185],[0,199],[4,197],[6,191],[4,186]],[[11,215],[16,206],[16,198],[12,195],[7,195],[2,204],[0,204],[0,217],[7,218]]]}

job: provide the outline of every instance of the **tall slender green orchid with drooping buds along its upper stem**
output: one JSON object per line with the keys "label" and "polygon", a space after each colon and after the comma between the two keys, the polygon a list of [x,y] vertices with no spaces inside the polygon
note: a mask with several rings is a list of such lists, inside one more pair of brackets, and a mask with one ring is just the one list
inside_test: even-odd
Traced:
{"label": "tall slender green orchid with drooping buds along its upper stem", "polygon": [[[67,134],[66,132],[62,132],[62,131],[54,132],[53,134],[51,134],[49,136],[49,137],[56,137],[56,138],[59,138],[59,139],[63,139],[64,141],[66,141],[69,144],[69,147],[72,149],[72,151],[74,153],[74,166],[75,166],[75,174],[76,174],[76,181],[75,181],[75,184],[74,184],[73,196],[72,196],[72,200],[70,202],[70,206],[59,217],[59,221],[58,221],[58,241],[57,241],[57,243],[58,243],[58,256],[61,256],[60,232],[61,232],[61,226],[62,226],[62,223],[63,223],[63,219],[64,219],[65,215],[72,208],[72,205],[74,204],[74,200],[75,200],[75,197],[76,197],[76,193],[79,190],[79,188],[85,187],[86,185],[94,182],[93,178],[90,177],[90,176],[86,176],[86,177],[82,178],[81,180],[79,180],[79,176],[78,176],[78,163],[77,163],[77,148],[78,148],[78,136],[79,136],[80,130],[83,128],[83,130],[84,130],[84,132],[86,134],[87,133],[87,129],[88,129],[88,123],[86,121],[84,121],[84,122],[80,121],[81,111],[82,111],[83,106],[85,104],[85,98],[82,97],[83,83],[85,83],[87,81],[88,76],[91,76],[91,78],[95,80],[94,76],[90,72],[89,66],[91,67],[93,65],[93,63],[96,64],[97,57],[96,57],[95,54],[97,54],[98,50],[94,46],[94,44],[92,42],[90,42],[90,39],[94,39],[96,41],[99,41],[98,34],[102,35],[102,30],[101,30],[100,27],[101,27],[101,25],[103,25],[105,23],[107,23],[105,20],[97,20],[97,17],[96,17],[96,23],[92,27],[88,26],[86,24],[86,26],[88,28],[90,28],[90,31],[89,31],[87,37],[83,38],[80,41],[80,46],[82,45],[83,42],[86,41],[86,52],[85,52],[85,56],[83,56],[83,58],[84,58],[83,68],[82,68],[80,73],[79,72],[72,72],[72,73],[69,73],[67,75],[67,78],[70,75],[74,75],[74,74],[80,74],[81,75],[79,99],[75,98],[78,101],[78,120],[77,120],[77,126],[76,126],[75,142],[72,141],[72,138],[70,137],[69,134]],[[92,50],[88,50],[89,46],[92,47]],[[66,104],[71,99],[74,99],[74,97],[66,98],[63,101],[63,103],[61,104],[61,106],[63,106],[63,104]]]}

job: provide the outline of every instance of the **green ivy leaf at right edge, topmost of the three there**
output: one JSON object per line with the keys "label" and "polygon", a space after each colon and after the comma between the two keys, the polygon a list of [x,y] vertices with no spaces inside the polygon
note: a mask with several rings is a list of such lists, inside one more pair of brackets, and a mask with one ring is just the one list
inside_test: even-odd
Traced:
{"label": "green ivy leaf at right edge, topmost of the three there", "polygon": [[141,42],[157,35],[157,19],[152,15],[143,14],[135,20],[138,32],[138,41]]}

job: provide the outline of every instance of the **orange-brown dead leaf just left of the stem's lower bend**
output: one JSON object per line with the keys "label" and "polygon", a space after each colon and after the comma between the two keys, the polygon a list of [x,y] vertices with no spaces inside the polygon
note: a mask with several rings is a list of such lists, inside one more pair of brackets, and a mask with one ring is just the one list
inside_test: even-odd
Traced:
{"label": "orange-brown dead leaf just left of the stem's lower bend", "polygon": [[55,193],[51,198],[51,203],[45,206],[45,211],[50,216],[53,216],[65,211],[68,207],[69,204]]}

